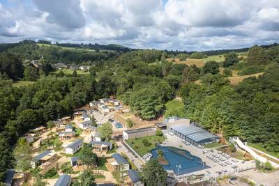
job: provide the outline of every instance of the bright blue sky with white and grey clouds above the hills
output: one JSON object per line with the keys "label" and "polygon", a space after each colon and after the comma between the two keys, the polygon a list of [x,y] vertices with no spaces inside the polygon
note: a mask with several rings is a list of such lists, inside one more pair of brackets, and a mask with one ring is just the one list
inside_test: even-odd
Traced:
{"label": "bright blue sky with white and grey clouds above the hills", "polygon": [[279,40],[279,0],[0,0],[0,42],[204,51]]}

